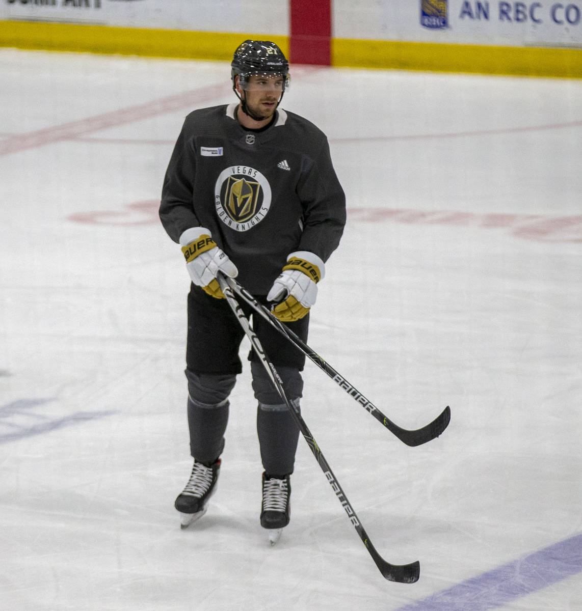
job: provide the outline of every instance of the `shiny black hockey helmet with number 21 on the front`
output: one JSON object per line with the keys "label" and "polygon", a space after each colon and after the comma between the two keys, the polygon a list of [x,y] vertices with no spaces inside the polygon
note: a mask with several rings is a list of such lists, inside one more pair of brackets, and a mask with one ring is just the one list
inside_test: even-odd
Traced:
{"label": "shiny black hockey helmet with number 21 on the front", "polygon": [[282,91],[289,89],[289,62],[279,46],[270,40],[245,40],[234,52],[230,68],[233,89],[236,89],[236,76],[241,89],[245,89],[251,75],[281,75],[284,77]]}

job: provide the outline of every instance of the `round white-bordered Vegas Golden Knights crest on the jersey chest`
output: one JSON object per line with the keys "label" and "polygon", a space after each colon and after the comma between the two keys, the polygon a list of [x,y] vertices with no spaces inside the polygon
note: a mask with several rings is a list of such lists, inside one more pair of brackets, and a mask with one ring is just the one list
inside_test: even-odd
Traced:
{"label": "round white-bordered Vegas Golden Knights crest on the jersey chest", "polygon": [[271,185],[254,167],[227,167],[216,180],[214,193],[218,218],[235,231],[252,229],[271,207]]}

